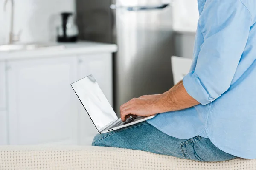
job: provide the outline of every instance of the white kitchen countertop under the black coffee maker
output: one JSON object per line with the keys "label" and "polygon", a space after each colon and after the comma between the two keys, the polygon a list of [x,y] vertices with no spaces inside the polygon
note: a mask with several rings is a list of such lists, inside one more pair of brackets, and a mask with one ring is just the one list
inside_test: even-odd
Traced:
{"label": "white kitchen countertop under the black coffee maker", "polygon": [[80,41],[76,43],[57,43],[64,45],[63,49],[36,49],[26,51],[0,51],[0,61],[12,59],[33,59],[44,57],[75,56],[79,54],[113,53],[117,51],[117,45],[99,42]]}

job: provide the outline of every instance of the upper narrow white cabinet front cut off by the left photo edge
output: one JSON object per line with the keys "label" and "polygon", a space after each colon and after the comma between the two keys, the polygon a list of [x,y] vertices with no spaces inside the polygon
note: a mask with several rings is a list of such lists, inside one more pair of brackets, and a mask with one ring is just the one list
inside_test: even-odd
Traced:
{"label": "upper narrow white cabinet front cut off by the left photo edge", "polygon": [[0,111],[6,110],[5,62],[0,62]]}

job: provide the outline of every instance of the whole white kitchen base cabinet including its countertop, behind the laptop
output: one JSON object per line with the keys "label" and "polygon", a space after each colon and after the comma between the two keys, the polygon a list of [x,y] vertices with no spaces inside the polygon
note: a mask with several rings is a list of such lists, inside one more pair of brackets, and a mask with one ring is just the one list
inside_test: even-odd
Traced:
{"label": "whole white kitchen base cabinet including its countertop, behind the laptop", "polygon": [[71,83],[90,74],[113,105],[116,45],[0,52],[0,145],[90,145],[98,133]]}

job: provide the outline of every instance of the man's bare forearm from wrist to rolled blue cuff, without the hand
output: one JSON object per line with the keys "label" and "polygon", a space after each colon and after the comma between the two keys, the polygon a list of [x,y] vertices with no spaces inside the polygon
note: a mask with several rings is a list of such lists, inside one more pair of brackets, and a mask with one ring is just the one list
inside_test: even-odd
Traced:
{"label": "man's bare forearm from wrist to rolled blue cuff, without the hand", "polygon": [[164,113],[190,108],[198,104],[199,102],[186,92],[183,82],[180,81],[158,99],[157,108],[160,113]]}

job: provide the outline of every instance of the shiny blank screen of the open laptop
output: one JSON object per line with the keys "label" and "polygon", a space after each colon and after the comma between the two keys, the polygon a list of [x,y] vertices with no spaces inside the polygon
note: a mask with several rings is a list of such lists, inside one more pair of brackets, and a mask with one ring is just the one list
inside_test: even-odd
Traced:
{"label": "shiny blank screen of the open laptop", "polygon": [[93,75],[84,77],[71,86],[98,131],[117,118]]}

